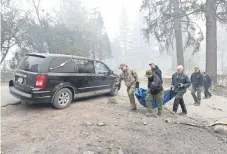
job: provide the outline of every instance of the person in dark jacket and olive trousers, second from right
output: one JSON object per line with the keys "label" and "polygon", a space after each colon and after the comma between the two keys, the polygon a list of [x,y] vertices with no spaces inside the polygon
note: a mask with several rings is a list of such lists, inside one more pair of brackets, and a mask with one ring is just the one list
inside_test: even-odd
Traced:
{"label": "person in dark jacket and olive trousers, second from right", "polygon": [[[195,72],[191,75],[192,90],[191,94],[195,101],[194,105],[199,106],[201,103],[201,93],[203,87],[203,75],[198,67],[195,67]],[[196,94],[197,93],[197,96]]]}

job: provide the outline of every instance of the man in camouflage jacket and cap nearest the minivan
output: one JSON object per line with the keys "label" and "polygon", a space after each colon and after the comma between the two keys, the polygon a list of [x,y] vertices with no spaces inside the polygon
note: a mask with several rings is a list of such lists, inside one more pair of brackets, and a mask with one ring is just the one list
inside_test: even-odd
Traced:
{"label": "man in camouflage jacket and cap nearest the minivan", "polygon": [[121,64],[119,69],[122,70],[122,73],[119,76],[117,84],[120,85],[121,81],[124,80],[130,101],[130,109],[136,110],[134,91],[137,86],[136,84],[138,83],[138,75],[134,70],[129,69],[126,64]]}

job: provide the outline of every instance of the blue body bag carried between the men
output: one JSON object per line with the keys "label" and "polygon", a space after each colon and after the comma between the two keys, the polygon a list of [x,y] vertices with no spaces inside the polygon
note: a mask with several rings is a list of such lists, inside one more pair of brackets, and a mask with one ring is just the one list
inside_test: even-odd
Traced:
{"label": "blue body bag carried between the men", "polygon": [[[146,94],[147,94],[147,89],[139,88],[135,90],[135,95],[140,104],[144,107],[147,107],[146,105]],[[164,94],[164,99],[163,99],[163,105],[169,102],[172,98],[176,96],[176,93],[173,92],[171,89],[166,90]],[[152,107],[157,108],[158,105],[155,100],[151,101]]]}

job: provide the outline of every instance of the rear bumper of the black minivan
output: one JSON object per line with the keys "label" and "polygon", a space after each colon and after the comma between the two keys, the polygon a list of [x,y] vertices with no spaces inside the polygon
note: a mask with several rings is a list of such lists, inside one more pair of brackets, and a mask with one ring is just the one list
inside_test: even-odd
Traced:
{"label": "rear bumper of the black minivan", "polygon": [[9,91],[10,94],[12,94],[14,97],[22,100],[22,101],[28,101],[28,102],[40,102],[40,103],[46,103],[51,101],[51,93],[50,91],[42,91],[34,89],[31,93],[25,93],[21,90],[18,90],[14,87],[13,81],[9,81]]}

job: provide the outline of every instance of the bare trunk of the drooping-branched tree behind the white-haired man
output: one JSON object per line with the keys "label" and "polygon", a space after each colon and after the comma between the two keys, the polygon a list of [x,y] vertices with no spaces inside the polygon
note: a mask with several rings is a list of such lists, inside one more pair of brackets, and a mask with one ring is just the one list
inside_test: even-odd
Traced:
{"label": "bare trunk of the drooping-branched tree behind the white-haired man", "polygon": [[[179,0],[174,0],[174,13],[180,14]],[[177,52],[177,65],[184,66],[184,53],[183,53],[183,43],[182,43],[182,30],[181,30],[181,18],[174,19],[174,30],[176,38],[176,52]]]}

